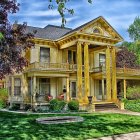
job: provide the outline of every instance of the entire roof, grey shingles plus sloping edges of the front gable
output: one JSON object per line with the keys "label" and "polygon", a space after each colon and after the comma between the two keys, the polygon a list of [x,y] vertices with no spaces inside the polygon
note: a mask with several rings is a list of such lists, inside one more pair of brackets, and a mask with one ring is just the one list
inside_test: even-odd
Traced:
{"label": "entire roof, grey shingles plus sloping edges of the front gable", "polygon": [[37,31],[35,34],[36,38],[42,38],[42,39],[50,39],[50,40],[57,40],[60,38],[64,38],[65,36],[72,34],[74,32],[78,32],[80,30],[82,30],[83,28],[86,28],[87,26],[93,24],[94,22],[98,21],[98,20],[102,20],[107,26],[109,26],[113,32],[117,35],[117,37],[120,40],[123,40],[123,38],[118,34],[118,32],[102,17],[99,16],[75,29],[71,29],[71,28],[62,28],[60,26],[55,26],[55,25],[47,25],[44,28],[38,28],[38,27],[32,27],[32,26],[27,26],[26,31],[33,33],[33,31]]}

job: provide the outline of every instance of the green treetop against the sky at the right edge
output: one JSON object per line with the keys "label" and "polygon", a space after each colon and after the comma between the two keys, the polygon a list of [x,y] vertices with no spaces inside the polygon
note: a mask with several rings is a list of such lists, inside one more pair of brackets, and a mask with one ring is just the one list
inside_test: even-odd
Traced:
{"label": "green treetop against the sky at the right edge", "polygon": [[140,40],[140,17],[136,17],[134,22],[129,26],[128,33],[134,41]]}

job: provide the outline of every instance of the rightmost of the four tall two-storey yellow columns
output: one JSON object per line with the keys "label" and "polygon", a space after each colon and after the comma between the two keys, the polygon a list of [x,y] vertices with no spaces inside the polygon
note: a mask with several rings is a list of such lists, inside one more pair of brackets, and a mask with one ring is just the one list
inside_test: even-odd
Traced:
{"label": "rightmost of the four tall two-storey yellow columns", "polygon": [[112,49],[112,99],[117,100],[117,81],[116,81],[116,49]]}

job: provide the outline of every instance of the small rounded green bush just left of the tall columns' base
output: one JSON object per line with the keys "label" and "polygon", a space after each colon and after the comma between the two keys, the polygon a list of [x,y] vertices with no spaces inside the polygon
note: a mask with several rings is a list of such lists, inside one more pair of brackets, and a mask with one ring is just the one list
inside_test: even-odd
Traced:
{"label": "small rounded green bush just left of the tall columns' base", "polygon": [[79,102],[77,100],[72,100],[68,103],[68,108],[72,111],[79,110]]}

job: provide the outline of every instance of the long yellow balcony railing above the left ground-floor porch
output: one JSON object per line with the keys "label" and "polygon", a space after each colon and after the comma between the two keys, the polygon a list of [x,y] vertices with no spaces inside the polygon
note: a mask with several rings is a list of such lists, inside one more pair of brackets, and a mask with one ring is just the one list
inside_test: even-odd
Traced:
{"label": "long yellow balcony railing above the left ground-floor porch", "polygon": [[61,71],[72,72],[77,70],[76,64],[69,63],[46,63],[46,62],[34,62],[30,64],[26,71]]}

